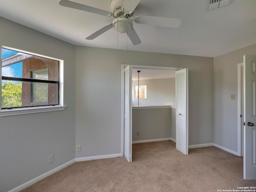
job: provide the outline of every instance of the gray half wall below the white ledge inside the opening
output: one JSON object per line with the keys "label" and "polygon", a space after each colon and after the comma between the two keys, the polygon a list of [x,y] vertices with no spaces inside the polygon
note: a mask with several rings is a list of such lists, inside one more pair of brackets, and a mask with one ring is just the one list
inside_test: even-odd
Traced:
{"label": "gray half wall below the white ledge inside the opening", "polygon": [[[176,139],[175,108],[133,109],[132,141]],[[140,136],[137,136],[137,131]]]}

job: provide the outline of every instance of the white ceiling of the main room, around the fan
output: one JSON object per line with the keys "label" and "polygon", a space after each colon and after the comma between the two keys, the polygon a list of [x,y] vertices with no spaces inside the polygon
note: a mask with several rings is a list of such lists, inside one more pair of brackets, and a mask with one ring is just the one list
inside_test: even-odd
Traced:
{"label": "white ceiling of the main room, around the fan", "polygon": [[[111,0],[72,0],[110,11]],[[59,0],[0,0],[0,16],[78,46],[126,50],[126,34],[114,28],[85,38],[113,18],[58,4]],[[206,11],[206,0],[141,0],[134,16],[179,18],[179,28],[134,23],[142,43],[128,50],[215,57],[256,43],[256,0]]]}

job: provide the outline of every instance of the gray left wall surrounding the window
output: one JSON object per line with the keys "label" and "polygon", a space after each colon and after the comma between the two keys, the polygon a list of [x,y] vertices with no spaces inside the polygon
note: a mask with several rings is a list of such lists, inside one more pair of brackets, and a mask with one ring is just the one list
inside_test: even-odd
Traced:
{"label": "gray left wall surrounding the window", "polygon": [[[64,111],[0,118],[0,191],[75,157],[75,46],[0,17],[0,46],[64,60]],[[48,156],[54,162],[48,164]]]}

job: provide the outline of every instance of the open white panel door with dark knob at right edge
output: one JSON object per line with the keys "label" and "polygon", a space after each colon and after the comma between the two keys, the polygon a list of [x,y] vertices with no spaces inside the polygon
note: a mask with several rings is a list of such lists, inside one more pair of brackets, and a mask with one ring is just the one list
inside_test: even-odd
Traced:
{"label": "open white panel door with dark knob at right edge", "polygon": [[244,56],[244,179],[256,179],[256,56]]}

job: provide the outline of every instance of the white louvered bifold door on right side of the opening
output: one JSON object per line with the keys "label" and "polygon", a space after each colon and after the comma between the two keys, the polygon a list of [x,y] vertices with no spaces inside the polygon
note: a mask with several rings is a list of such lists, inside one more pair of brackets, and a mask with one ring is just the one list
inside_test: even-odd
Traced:
{"label": "white louvered bifold door on right side of the opening", "polygon": [[176,149],[188,155],[188,69],[176,71]]}

